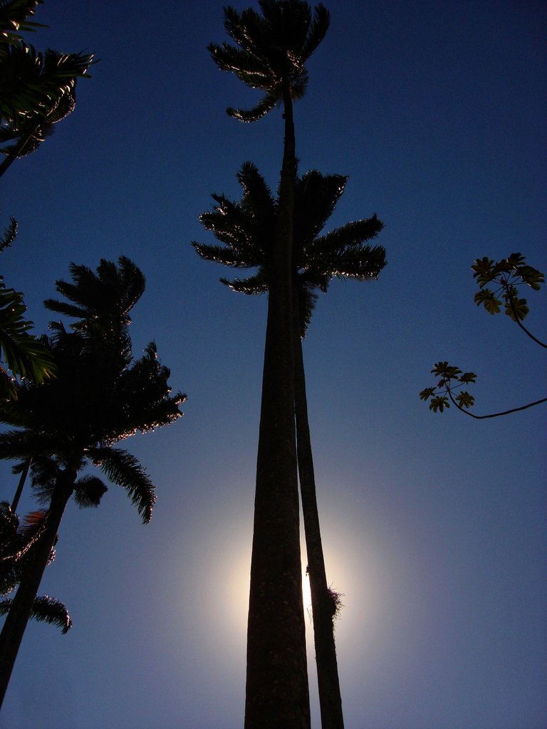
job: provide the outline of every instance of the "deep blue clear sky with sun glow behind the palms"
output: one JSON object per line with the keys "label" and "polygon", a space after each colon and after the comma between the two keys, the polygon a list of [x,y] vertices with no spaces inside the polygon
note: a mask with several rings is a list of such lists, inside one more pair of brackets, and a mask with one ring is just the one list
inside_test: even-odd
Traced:
{"label": "deep blue clear sky with sun glow behind the palms", "polygon": [[[544,350],[476,307],[470,270],[513,252],[547,269],[547,9],[325,4],[295,104],[300,172],[349,176],[327,229],[376,212],[388,261],[379,281],[334,281],[304,342],[346,729],[540,729],[547,406],[476,421],[418,394],[448,360],[477,373],[477,414],[547,396]],[[36,47],[100,62],[0,180],[0,226],[20,225],[1,273],[42,333],[70,262],[130,257],[147,277],[133,350],[155,340],[188,399],[124,444],[157,487],[149,525],[115,486],[98,510],[69,504],[40,592],[74,627],[28,625],[0,728],[240,728],[267,301],[222,286],[190,242],[214,242],[198,215],[212,192],[239,198],[245,161],[275,190],[281,112],[225,114],[257,95],[206,51],[226,39],[220,1],[46,0],[36,20]],[[546,340],[546,292],[527,298]],[[9,464],[0,483],[11,500]],[[311,642],[308,668],[316,729]]]}

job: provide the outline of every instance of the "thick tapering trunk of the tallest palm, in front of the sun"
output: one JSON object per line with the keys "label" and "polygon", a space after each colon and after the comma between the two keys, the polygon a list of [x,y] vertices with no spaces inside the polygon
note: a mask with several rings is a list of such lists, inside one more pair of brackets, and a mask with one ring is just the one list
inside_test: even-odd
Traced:
{"label": "thick tapering trunk of the tallest palm, in front of the sun", "polygon": [[309,729],[292,337],[295,136],[288,84],[268,297],[247,625],[246,729]]}

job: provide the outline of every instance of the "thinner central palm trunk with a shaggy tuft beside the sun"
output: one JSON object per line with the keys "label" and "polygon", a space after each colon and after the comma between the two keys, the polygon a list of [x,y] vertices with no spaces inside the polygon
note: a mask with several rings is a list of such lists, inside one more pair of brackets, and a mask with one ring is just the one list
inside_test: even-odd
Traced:
{"label": "thinner central palm trunk with a shaggy tuft beside the sun", "polygon": [[[296,293],[294,295],[296,296]],[[322,729],[344,729],[338,663],[334,643],[335,604],[328,590],[319,528],[298,306],[295,306],[295,413],[298,475],[300,476],[300,494],[302,496],[306,553],[308,555],[321,726]]]}

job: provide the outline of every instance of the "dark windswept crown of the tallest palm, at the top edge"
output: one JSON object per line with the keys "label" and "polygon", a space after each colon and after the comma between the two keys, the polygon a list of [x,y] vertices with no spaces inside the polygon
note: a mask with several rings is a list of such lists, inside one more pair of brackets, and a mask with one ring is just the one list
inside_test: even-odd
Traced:
{"label": "dark windswept crown of the tallest palm, at the top edge", "polygon": [[239,13],[224,9],[224,25],[236,46],[209,44],[214,62],[222,71],[233,71],[247,86],[263,91],[249,110],[227,109],[244,122],[260,119],[284,99],[301,98],[306,90],[306,61],[325,37],[330,15],[322,4],[313,17],[301,0],[259,0],[262,15],[248,8]]}

